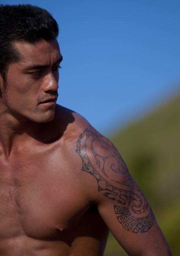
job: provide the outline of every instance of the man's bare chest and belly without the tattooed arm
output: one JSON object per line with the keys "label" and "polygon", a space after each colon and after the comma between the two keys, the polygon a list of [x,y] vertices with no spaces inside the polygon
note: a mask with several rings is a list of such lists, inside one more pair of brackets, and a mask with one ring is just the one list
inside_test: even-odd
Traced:
{"label": "man's bare chest and belly without the tattooed arm", "polygon": [[103,255],[108,229],[87,196],[73,126],[52,143],[24,143],[8,159],[1,152],[0,255]]}

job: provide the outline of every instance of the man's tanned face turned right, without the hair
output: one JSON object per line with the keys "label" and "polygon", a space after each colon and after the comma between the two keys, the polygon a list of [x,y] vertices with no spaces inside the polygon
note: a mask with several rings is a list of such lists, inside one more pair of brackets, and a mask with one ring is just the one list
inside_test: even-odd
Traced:
{"label": "man's tanned face turned right, without the hair", "polygon": [[9,65],[6,86],[1,84],[5,113],[38,123],[52,121],[62,61],[57,40],[15,42],[14,47],[20,60]]}

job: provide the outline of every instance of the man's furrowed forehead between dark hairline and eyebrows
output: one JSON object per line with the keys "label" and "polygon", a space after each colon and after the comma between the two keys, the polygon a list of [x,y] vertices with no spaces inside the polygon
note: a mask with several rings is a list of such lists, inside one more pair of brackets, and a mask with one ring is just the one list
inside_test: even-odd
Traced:
{"label": "man's furrowed forehead between dark hairline and eyebrows", "polygon": [[13,44],[17,50],[22,64],[51,64],[61,58],[60,48],[57,40],[45,41],[31,44],[27,42],[15,42]]}

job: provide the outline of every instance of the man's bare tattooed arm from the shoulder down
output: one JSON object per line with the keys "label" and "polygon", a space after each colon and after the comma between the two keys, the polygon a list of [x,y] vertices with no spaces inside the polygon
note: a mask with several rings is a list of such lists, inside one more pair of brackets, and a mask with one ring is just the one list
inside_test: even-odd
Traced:
{"label": "man's bare tattooed arm from the shoulder down", "polygon": [[[145,195],[113,143],[86,129],[78,139],[77,153],[82,160],[81,170],[96,179],[98,187],[96,192],[92,189],[92,201],[129,255],[171,255],[165,253],[167,243]],[[157,237],[160,246],[157,246]]]}

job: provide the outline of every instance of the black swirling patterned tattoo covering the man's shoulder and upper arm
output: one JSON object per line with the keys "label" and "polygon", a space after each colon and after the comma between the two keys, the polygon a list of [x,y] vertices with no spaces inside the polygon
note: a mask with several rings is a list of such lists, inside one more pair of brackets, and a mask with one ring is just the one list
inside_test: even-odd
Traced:
{"label": "black swirling patterned tattoo covering the man's shoulder and upper arm", "polygon": [[133,233],[148,231],[153,225],[153,212],[113,143],[85,129],[76,152],[83,162],[81,170],[94,176],[98,191],[114,201],[114,213],[123,228]]}

